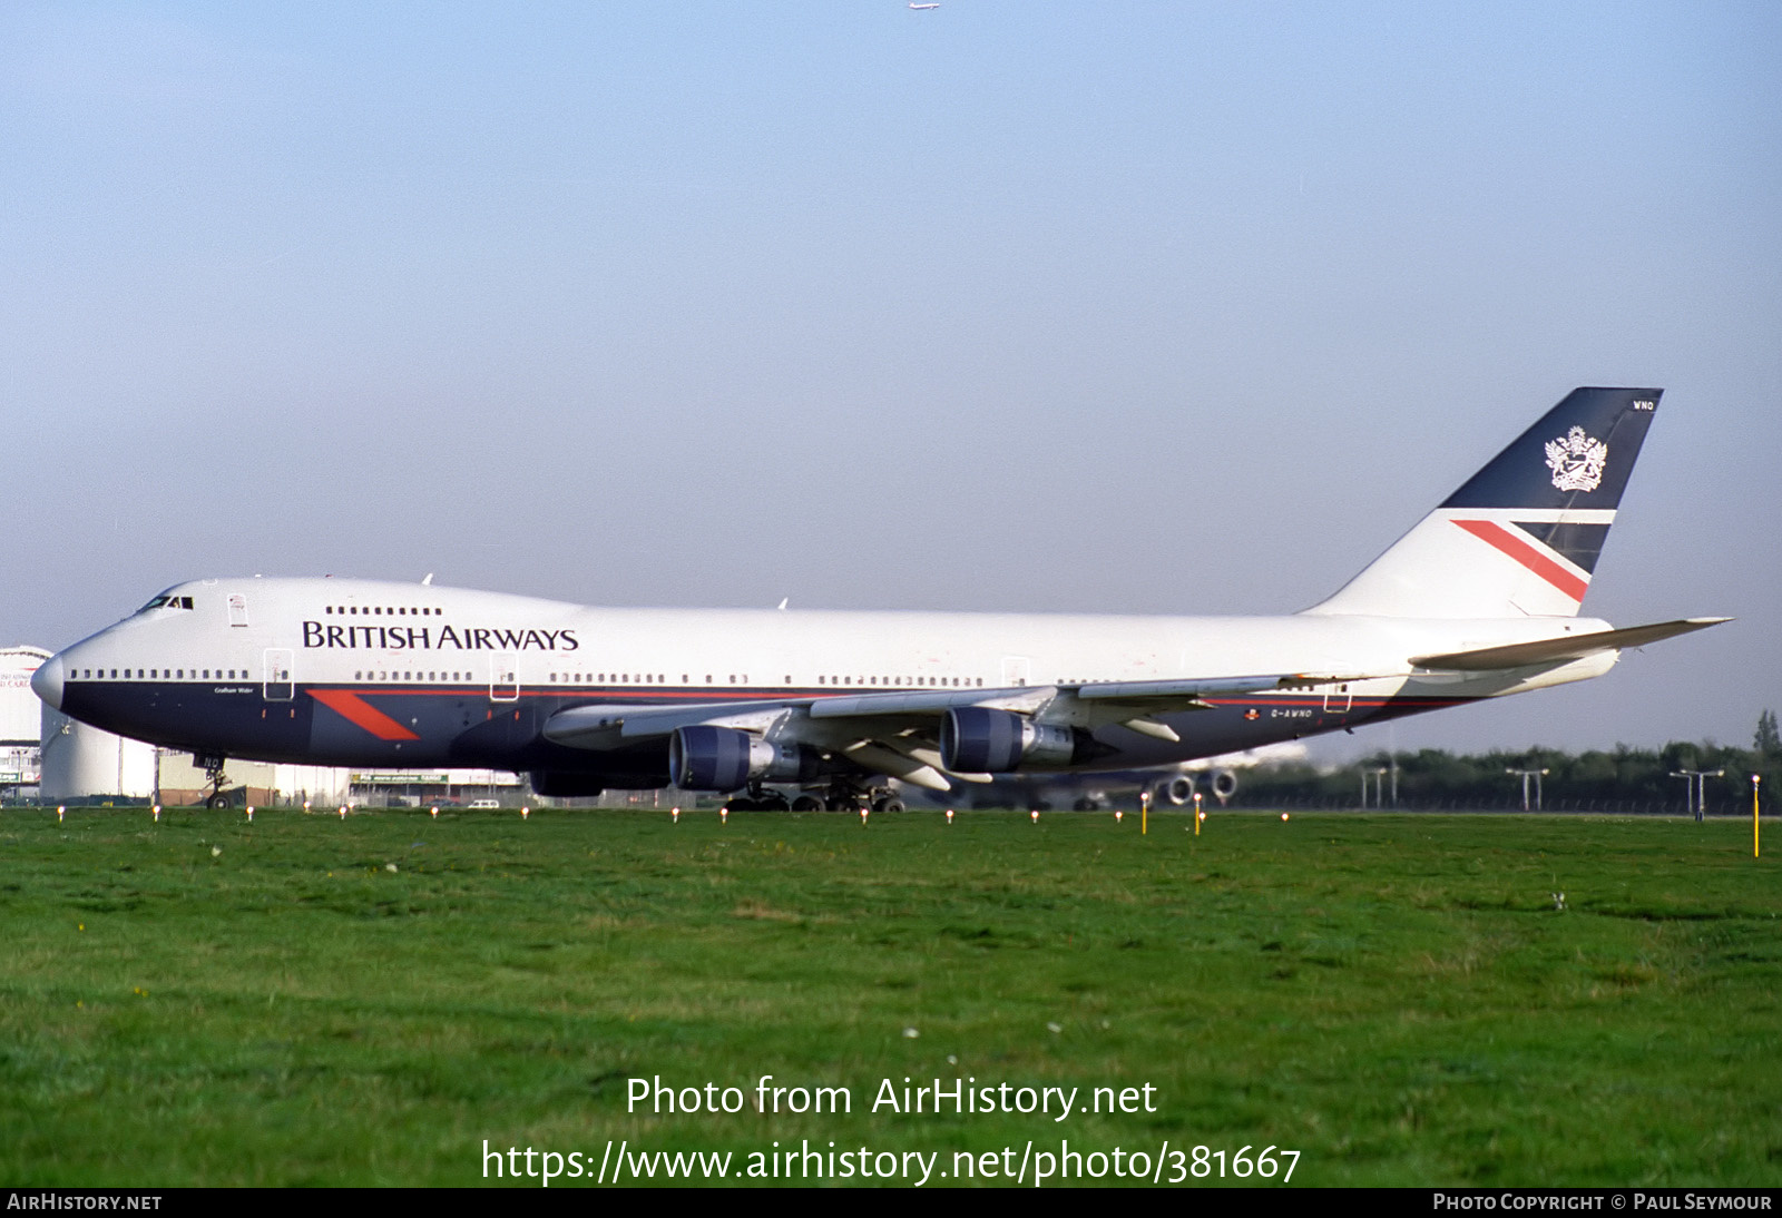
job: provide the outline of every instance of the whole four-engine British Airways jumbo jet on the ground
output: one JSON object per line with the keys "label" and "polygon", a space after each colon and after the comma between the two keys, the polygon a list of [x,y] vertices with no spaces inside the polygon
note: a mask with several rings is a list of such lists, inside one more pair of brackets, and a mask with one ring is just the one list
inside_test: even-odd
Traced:
{"label": "whole four-engine British Airways jumbo jet on the ground", "polygon": [[[1285,616],[588,609],[426,584],[203,579],[32,677],[221,775],[492,767],[889,808],[889,778],[1167,766],[1606,673],[1700,630],[1579,618],[1659,390],[1579,388],[1333,597]],[[1395,472],[1402,477],[1402,468]],[[1001,540],[985,538],[987,545]]]}

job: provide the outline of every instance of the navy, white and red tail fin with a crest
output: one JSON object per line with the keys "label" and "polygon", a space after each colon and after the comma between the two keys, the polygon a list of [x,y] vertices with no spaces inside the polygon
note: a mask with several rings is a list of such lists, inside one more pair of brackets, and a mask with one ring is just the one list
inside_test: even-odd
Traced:
{"label": "navy, white and red tail fin with a crest", "polygon": [[1577,388],[1306,613],[1575,616],[1663,390]]}

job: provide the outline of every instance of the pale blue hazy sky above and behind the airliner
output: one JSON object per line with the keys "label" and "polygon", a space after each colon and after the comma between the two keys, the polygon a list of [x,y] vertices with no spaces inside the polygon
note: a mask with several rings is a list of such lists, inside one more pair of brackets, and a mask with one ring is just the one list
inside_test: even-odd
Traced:
{"label": "pale blue hazy sky above and behind the airliner", "polygon": [[1737,621],[1390,743],[1750,743],[1778,62],[1768,0],[14,0],[0,645],[257,572],[1287,613],[1639,385],[1584,611]]}

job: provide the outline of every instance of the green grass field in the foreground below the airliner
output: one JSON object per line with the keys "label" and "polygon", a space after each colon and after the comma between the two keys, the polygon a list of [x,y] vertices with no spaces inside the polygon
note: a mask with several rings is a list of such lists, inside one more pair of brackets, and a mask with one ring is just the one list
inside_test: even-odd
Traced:
{"label": "green grass field in the foreground below the airliner", "polygon": [[[1778,985],[1748,821],[5,810],[0,1182],[478,1184],[483,1140],[611,1138],[1775,1186]],[[763,1074],[852,1113],[627,1113]],[[905,1076],[1078,1111],[870,1111]]]}

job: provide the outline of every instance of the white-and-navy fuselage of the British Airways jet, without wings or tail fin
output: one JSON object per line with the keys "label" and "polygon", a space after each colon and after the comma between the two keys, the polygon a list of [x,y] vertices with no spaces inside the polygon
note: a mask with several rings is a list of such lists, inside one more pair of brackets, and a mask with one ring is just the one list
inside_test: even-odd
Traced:
{"label": "white-and-navy fuselage of the British Airways jet, without wings or tail fin", "polygon": [[[1588,618],[1187,618],[777,609],[593,609],[346,579],[180,584],[52,664],[62,709],[157,744],[310,764],[617,767],[551,744],[577,705],[757,705],[880,691],[1021,689],[1255,673],[1354,673],[1158,716],[1176,741],[1096,728],[1098,769],[1151,766],[1522,693],[1614,654],[1486,673],[1413,655],[1606,629]],[[191,607],[184,607],[184,605]],[[48,694],[46,694],[48,696]],[[613,785],[624,785],[615,780]]]}

